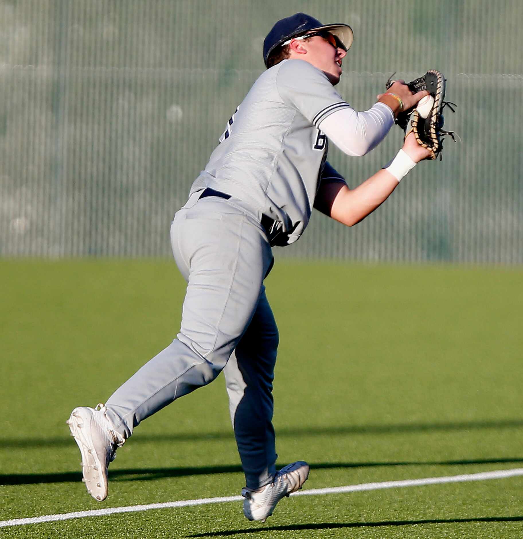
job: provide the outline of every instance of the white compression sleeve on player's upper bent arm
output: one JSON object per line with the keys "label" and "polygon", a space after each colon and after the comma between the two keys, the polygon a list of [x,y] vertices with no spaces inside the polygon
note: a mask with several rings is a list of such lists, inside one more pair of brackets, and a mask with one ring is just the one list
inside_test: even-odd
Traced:
{"label": "white compression sleeve on player's upper bent arm", "polygon": [[343,153],[365,155],[378,146],[394,125],[394,113],[385,103],[374,103],[365,112],[344,107],[319,123],[321,129]]}

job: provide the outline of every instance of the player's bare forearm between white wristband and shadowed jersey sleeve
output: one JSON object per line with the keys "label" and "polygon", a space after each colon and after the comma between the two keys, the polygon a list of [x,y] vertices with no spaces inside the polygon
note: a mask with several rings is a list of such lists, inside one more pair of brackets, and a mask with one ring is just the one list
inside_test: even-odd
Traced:
{"label": "player's bare forearm between white wristband and shadowed jersey sleeve", "polygon": [[398,186],[398,178],[381,169],[355,189],[340,190],[332,204],[331,217],[347,226],[365,219]]}

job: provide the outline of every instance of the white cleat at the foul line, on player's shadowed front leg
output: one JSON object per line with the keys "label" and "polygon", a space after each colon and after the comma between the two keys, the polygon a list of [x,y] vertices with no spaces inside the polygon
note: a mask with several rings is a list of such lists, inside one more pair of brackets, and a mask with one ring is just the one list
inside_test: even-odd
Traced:
{"label": "white cleat at the foul line, on player's shadowed front leg", "polygon": [[298,460],[276,472],[272,483],[257,490],[242,488],[243,514],[249,520],[265,522],[273,514],[276,503],[302,488],[308,477],[309,465]]}

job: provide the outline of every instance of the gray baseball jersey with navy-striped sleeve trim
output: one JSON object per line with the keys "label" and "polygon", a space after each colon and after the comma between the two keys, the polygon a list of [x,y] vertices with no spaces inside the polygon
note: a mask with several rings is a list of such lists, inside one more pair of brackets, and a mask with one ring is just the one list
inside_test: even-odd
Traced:
{"label": "gray baseball jersey with navy-striped sleeve trim", "polygon": [[264,72],[227,123],[191,194],[206,187],[239,199],[264,213],[292,243],[309,222],[321,172],[344,181],[325,167],[327,139],[317,128],[327,116],[350,107],[318,68],[303,60],[284,60]]}

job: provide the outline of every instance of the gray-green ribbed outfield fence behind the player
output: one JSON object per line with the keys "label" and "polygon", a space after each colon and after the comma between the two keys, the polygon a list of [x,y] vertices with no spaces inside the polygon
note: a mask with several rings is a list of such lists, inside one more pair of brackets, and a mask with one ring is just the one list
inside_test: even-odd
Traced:
{"label": "gray-green ribbed outfield fence behind the player", "polygon": [[[462,138],[347,229],[317,214],[280,255],[523,262],[523,4],[510,0],[0,1],[0,255],[169,255],[169,225],[262,72],[263,38],[306,11],[353,27],[341,95],[437,68]],[[356,185],[401,144],[330,161]]]}

